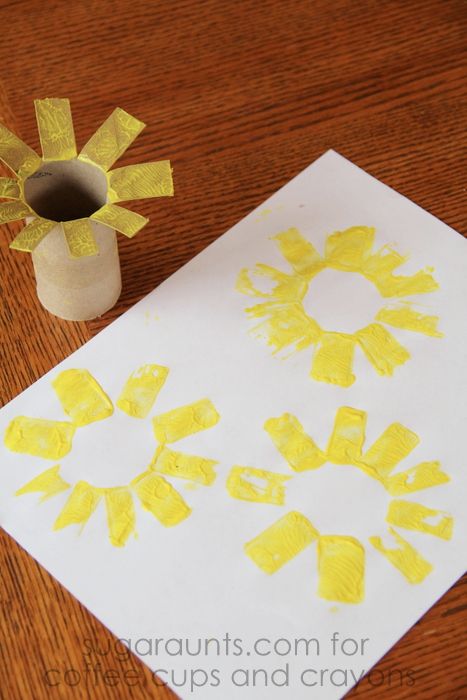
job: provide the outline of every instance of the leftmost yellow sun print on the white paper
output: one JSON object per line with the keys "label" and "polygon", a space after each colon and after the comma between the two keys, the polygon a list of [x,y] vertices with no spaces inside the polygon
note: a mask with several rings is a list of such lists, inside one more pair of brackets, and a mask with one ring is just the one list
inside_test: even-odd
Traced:
{"label": "leftmost yellow sun print on the white paper", "polygon": [[[155,364],[137,369],[126,381],[116,401],[117,408],[130,418],[146,418],[168,373],[167,367]],[[17,416],[5,431],[7,448],[42,459],[63,460],[73,448],[76,430],[107,420],[114,413],[111,399],[86,369],[63,370],[52,387],[68,420]],[[55,521],[55,530],[73,524],[83,528],[103,500],[110,542],[122,547],[136,533],[134,496],[144,510],[166,527],[178,525],[190,515],[191,508],[166,477],[210,486],[216,478],[217,461],[175,451],[169,445],[214,427],[219,418],[207,398],[154,416],[155,454],[150,464],[125,485],[99,487],[86,481],[72,485],[62,477],[61,465],[56,464],[21,487],[16,495],[39,493],[44,501],[72,489]]]}

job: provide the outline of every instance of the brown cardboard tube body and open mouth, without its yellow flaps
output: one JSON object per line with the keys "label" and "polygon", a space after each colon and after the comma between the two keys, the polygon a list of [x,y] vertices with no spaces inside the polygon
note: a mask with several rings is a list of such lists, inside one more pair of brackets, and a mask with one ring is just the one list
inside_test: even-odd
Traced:
{"label": "brown cardboard tube body and open mouth, without its yellow flaps", "polygon": [[[76,159],[48,162],[26,181],[25,197],[37,214],[53,221],[84,218],[105,204],[107,179]],[[98,255],[72,258],[58,223],[32,253],[39,301],[68,321],[101,316],[121,292],[116,233],[98,222],[91,226]]]}

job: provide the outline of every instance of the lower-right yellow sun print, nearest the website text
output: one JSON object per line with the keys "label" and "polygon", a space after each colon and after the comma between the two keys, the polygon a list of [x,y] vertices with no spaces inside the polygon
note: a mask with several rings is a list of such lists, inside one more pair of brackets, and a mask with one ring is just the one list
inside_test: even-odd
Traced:
{"label": "lower-right yellow sun print, nearest the website text", "polygon": [[[410,495],[449,481],[437,461],[421,462],[394,472],[416,448],[418,436],[404,425],[392,423],[365,450],[366,419],[365,411],[347,406],[340,408],[324,449],[307,435],[299,420],[290,413],[268,419],[264,429],[287,462],[291,474],[235,466],[227,478],[227,491],[232,498],[282,506],[286,503],[287,482],[294,474],[294,478],[300,479],[303,472],[314,472],[326,463],[361,470],[376,480],[389,497]],[[338,480],[336,488],[339,488]],[[330,508],[332,503],[330,494]],[[394,528],[449,540],[453,518],[411,500],[388,498],[386,522],[392,526],[384,533],[389,543],[383,543],[378,535],[370,535],[369,543],[407,581],[421,583],[432,565]],[[247,542],[244,550],[256,566],[274,574],[313,543],[317,545],[318,596],[334,602],[360,603],[365,594],[365,546],[356,537],[322,533],[317,523],[312,523],[303,513],[290,511]]]}

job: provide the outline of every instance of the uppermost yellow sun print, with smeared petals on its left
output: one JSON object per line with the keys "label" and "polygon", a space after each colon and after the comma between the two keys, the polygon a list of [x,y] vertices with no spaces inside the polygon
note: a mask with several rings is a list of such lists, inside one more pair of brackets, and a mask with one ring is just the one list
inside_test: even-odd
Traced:
{"label": "uppermost yellow sun print, with smeared petals on its left", "polygon": [[[368,325],[353,333],[322,328],[306,312],[304,298],[313,279],[326,269],[362,275],[385,299],[403,300],[438,289],[428,270],[410,276],[394,274],[405,258],[388,247],[374,251],[374,236],[375,229],[367,226],[336,231],[327,237],[321,256],[296,228],[290,228],[273,237],[291,267],[290,272],[259,263],[254,270],[243,269],[238,275],[237,290],[263,300],[246,309],[249,318],[260,320],[253,327],[253,334],[265,338],[274,353],[286,348],[300,351],[313,347],[310,376],[316,381],[342,387],[353,384],[356,347],[378,374],[392,375],[399,365],[407,362],[410,354],[387,330],[387,325],[433,338],[442,336],[436,316],[419,313],[407,302],[381,308]],[[253,276],[268,281],[272,291],[263,292],[255,287]]]}

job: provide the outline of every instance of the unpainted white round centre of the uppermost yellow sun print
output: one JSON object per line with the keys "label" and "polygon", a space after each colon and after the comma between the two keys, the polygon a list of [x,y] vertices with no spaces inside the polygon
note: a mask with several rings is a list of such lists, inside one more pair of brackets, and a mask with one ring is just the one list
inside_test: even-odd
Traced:
{"label": "unpainted white round centre of the uppermost yellow sun print", "polygon": [[324,330],[355,333],[370,324],[384,304],[362,275],[328,268],[311,280],[303,306]]}

